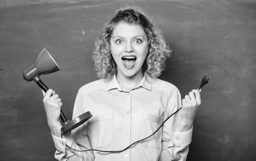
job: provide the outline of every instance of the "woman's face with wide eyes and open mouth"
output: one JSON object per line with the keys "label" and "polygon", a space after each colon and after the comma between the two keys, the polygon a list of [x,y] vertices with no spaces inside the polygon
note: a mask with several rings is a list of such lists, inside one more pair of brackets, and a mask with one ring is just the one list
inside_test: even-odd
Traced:
{"label": "woman's face with wide eyes and open mouth", "polygon": [[119,23],[114,26],[111,37],[111,54],[117,65],[117,72],[131,77],[142,72],[142,65],[148,53],[148,40],[140,25]]}

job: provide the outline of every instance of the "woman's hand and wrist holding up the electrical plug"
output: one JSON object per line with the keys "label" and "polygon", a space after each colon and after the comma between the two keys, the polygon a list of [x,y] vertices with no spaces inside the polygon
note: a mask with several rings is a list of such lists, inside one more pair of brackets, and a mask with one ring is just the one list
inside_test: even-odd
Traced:
{"label": "woman's hand and wrist holding up the electrical plug", "polygon": [[180,121],[186,124],[193,124],[195,119],[196,111],[201,105],[201,96],[200,90],[192,90],[189,92],[189,95],[185,96],[185,99],[182,99],[182,109],[181,109],[181,118]]}

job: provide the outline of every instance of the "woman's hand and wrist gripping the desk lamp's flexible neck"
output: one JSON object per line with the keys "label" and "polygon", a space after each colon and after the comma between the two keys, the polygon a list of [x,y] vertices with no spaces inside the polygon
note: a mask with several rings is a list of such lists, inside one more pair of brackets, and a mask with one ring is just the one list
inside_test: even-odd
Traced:
{"label": "woman's hand and wrist gripping the desk lamp's flexible neck", "polygon": [[[47,90],[45,93],[42,90],[44,95],[44,110],[47,116],[47,122],[49,128],[52,130],[55,126],[60,125],[60,115],[61,115],[61,99],[58,98],[58,94],[55,94],[55,91],[52,89]],[[51,96],[52,95],[52,96]]]}

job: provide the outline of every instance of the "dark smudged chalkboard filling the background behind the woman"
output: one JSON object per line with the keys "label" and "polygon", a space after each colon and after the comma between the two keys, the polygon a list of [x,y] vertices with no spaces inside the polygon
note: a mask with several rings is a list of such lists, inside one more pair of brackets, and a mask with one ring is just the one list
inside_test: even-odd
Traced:
{"label": "dark smudged chalkboard filling the background behind the woman", "polygon": [[[7,1],[5,1],[7,2]],[[94,40],[117,1],[0,4],[0,160],[52,161],[55,147],[43,95],[26,82],[29,68],[47,48],[60,71],[42,81],[62,99],[71,119],[78,89],[96,80]],[[52,1],[54,2],[54,0]],[[172,57],[159,78],[184,97],[199,87],[188,161],[244,161],[256,157],[256,2],[228,0],[131,1],[163,31]]]}

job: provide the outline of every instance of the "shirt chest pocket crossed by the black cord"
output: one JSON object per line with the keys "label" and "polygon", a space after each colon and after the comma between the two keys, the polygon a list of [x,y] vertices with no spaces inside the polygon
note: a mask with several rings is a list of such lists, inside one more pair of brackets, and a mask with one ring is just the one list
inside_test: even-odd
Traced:
{"label": "shirt chest pocket crossed by the black cord", "polygon": [[[143,121],[142,121],[142,127],[143,130],[141,131],[140,138],[146,138],[150,135],[152,135],[163,123],[163,118],[149,114],[149,113],[143,113]],[[142,141],[141,144],[144,147],[152,147],[159,149],[161,147],[161,140],[162,140],[162,130],[159,129],[157,133],[155,133],[150,138],[147,138],[146,140]]]}

